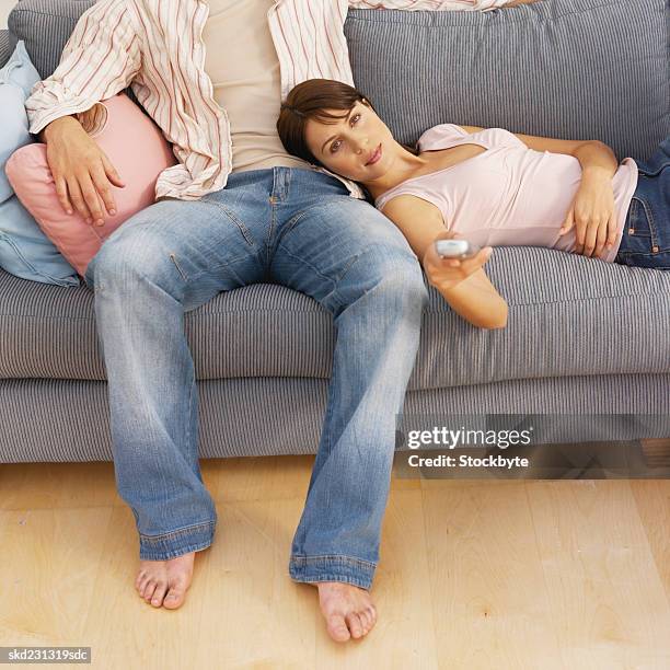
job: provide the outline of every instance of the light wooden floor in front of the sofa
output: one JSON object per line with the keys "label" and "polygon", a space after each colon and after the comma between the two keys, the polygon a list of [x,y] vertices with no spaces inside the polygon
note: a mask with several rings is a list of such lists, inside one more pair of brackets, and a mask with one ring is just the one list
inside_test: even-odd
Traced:
{"label": "light wooden floor in front of the sofa", "polygon": [[0,465],[0,646],[114,669],[670,668],[669,481],[394,478],[379,622],[339,646],[287,571],[312,462],[203,461],[219,525],[174,612],[134,589],[111,463]]}

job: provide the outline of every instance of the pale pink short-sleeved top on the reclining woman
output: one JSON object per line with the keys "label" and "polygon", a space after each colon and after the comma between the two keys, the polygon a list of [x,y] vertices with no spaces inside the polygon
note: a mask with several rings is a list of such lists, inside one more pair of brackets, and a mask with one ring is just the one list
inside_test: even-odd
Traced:
{"label": "pale pink short-sleeved top on the reclining woman", "polygon": [[[435,126],[419,138],[419,151],[480,145],[486,151],[431,174],[406,180],[376,198],[383,209],[398,195],[435,205],[453,230],[480,246],[547,246],[575,250],[575,228],[558,235],[581,180],[579,161],[564,153],[529,149],[512,132],[486,128],[469,135],[455,124]],[[637,186],[637,165],[622,161],[612,177],[617,235],[602,256],[613,262],[628,206]]]}

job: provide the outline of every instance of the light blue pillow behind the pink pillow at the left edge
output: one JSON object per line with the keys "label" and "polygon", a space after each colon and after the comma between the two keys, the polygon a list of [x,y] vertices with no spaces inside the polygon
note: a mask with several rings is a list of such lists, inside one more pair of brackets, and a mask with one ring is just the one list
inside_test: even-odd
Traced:
{"label": "light blue pillow behind the pink pillow at the left edge", "polygon": [[19,201],[4,173],[14,151],[34,141],[25,99],[41,81],[23,41],[0,70],[0,267],[23,279],[81,286],[77,270]]}

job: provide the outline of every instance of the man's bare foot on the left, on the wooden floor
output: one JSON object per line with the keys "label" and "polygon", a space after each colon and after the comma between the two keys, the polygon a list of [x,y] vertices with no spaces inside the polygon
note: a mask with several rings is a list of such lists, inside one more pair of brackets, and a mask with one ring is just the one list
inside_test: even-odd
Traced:
{"label": "man's bare foot on the left, on the wooden floor", "polygon": [[176,610],[184,603],[193,578],[195,552],[170,561],[140,561],[137,592],[154,608]]}

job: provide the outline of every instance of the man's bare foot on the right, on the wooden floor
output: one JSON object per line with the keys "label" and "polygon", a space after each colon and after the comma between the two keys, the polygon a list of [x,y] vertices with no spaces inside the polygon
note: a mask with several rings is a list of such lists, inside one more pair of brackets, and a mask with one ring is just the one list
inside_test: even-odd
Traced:
{"label": "man's bare foot on the right, on the wooden floor", "polygon": [[365,589],[342,581],[317,581],[319,604],[335,642],[358,639],[377,623],[377,609]]}

